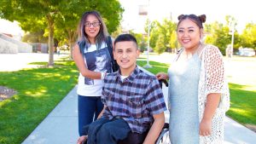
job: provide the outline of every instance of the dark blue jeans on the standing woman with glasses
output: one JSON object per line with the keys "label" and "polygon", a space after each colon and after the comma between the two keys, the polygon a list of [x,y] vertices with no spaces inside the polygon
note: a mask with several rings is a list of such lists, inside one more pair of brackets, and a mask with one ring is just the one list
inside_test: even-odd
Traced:
{"label": "dark blue jeans on the standing woman with glasses", "polygon": [[102,112],[103,104],[101,96],[79,95],[79,135],[84,134],[84,126],[90,124]]}

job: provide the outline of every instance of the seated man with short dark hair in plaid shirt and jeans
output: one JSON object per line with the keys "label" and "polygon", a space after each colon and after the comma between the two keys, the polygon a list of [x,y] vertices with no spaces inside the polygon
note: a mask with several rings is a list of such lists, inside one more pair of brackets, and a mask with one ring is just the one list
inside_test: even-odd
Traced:
{"label": "seated man with short dark hair in plaid shirt and jeans", "polygon": [[[165,124],[166,104],[160,84],[137,64],[137,40],[130,34],[114,41],[113,57],[119,71],[104,78],[102,117],[84,130],[78,143],[154,143]],[[128,135],[131,135],[128,136]],[[130,137],[130,138],[129,138]]]}

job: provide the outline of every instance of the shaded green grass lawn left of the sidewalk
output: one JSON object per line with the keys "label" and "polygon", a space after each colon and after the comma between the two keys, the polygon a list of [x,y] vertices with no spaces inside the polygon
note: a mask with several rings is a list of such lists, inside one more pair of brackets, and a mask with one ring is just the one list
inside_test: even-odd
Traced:
{"label": "shaded green grass lawn left of the sidewalk", "polygon": [[[46,65],[44,62],[33,63]],[[0,102],[0,143],[21,143],[77,84],[73,61],[55,67],[0,72],[0,85],[18,93]]]}

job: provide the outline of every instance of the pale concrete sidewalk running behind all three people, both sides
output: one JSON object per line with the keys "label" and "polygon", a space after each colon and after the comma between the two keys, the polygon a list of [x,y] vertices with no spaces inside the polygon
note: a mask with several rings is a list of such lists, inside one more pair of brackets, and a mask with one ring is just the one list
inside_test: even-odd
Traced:
{"label": "pale concrete sidewalk running behind all three people, both sides", "polygon": [[[77,86],[44,118],[44,121],[32,131],[22,144],[75,144],[78,137],[78,97]],[[163,92],[167,97],[168,89],[164,86]],[[169,118],[166,112],[166,120]],[[225,118],[225,144],[254,144],[256,133],[247,129],[236,121]]]}

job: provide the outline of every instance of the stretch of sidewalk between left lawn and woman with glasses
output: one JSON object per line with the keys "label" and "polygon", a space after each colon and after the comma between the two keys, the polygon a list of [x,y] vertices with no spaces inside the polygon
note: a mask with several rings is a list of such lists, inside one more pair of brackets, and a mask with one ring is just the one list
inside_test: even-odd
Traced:
{"label": "stretch of sidewalk between left lawn and woman with glasses", "polygon": [[22,144],[75,144],[79,137],[75,86]]}

